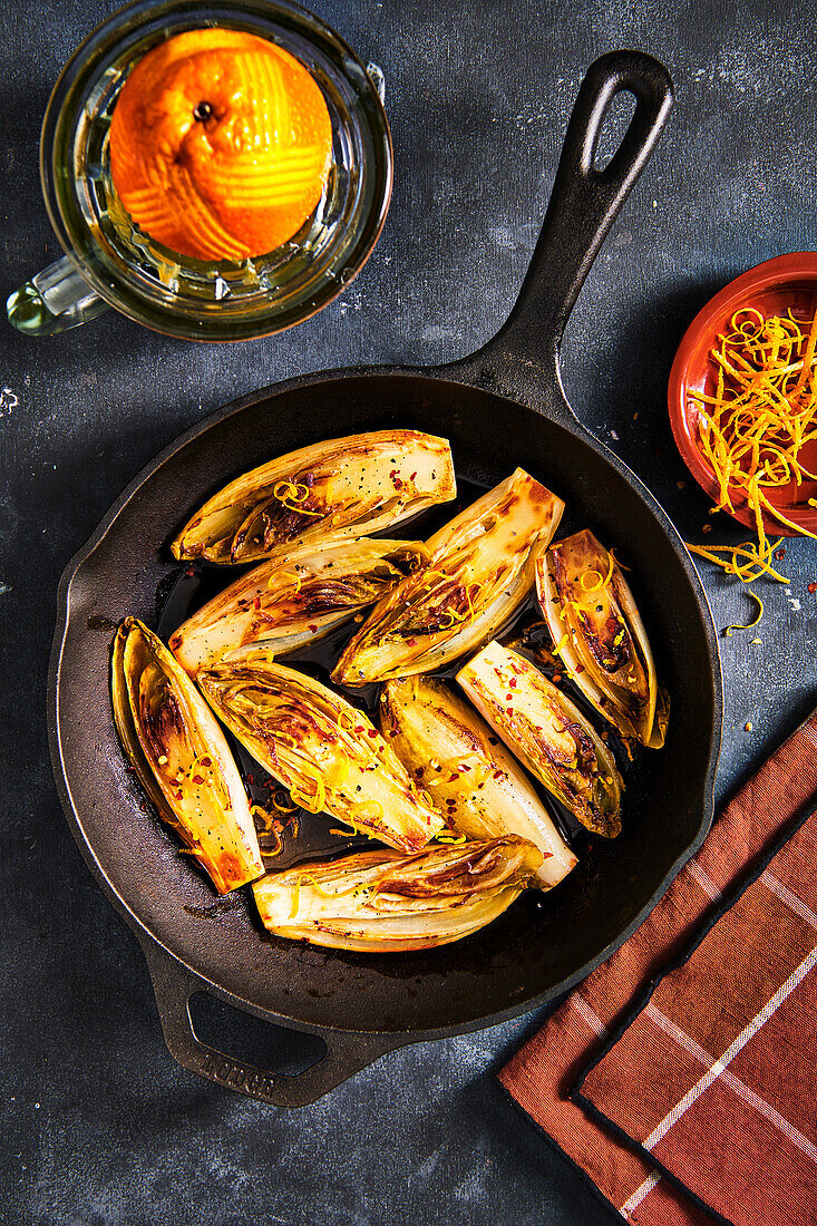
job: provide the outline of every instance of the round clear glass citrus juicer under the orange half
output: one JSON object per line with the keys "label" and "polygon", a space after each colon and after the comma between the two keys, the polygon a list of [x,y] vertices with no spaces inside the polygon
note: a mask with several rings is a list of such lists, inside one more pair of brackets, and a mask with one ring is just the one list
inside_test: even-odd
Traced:
{"label": "round clear glass citrus juicer under the orange half", "polygon": [[[312,216],[276,250],[242,261],[204,262],[162,246],[131,221],[110,173],[110,121],[128,74],[158,43],[205,27],[244,31],[294,55],[320,86],[332,128],[329,178]],[[137,0],[93,31],[54,87],[40,178],[65,255],[11,294],[9,320],[50,336],[113,306],[189,340],[291,327],[366,262],[389,208],[391,166],[383,74],[318,17],[287,0]]]}

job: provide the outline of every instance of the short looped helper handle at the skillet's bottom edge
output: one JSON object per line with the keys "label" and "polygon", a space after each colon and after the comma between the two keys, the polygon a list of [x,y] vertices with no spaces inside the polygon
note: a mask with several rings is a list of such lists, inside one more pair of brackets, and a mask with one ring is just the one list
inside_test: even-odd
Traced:
{"label": "short looped helper handle at the skillet's bottom edge", "polygon": [[[151,972],[164,1042],[174,1060],[226,1090],[274,1107],[305,1107],[373,1060],[400,1046],[400,1038],[320,1031],[326,1053],[303,1073],[283,1074],[256,1068],[202,1043],[193,1029],[190,997],[210,991],[200,978],[152,940],[141,940]],[[286,1022],[283,1022],[286,1025]],[[296,1027],[292,1027],[296,1029]],[[310,1031],[312,1034],[312,1031]]]}

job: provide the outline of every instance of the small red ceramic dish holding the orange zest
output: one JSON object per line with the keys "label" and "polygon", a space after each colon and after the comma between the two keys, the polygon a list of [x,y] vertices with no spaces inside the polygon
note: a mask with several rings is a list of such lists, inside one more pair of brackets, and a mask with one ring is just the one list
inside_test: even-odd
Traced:
{"label": "small red ceramic dish holding the orange zest", "polygon": [[[781,314],[791,306],[796,315],[813,318],[817,309],[817,251],[779,255],[730,281],[698,311],[678,346],[667,389],[670,424],[687,468],[713,501],[718,499],[718,482],[698,449],[698,411],[687,403],[687,391],[712,394],[716,368],[709,352],[718,333],[729,329],[730,319],[743,306],[753,306],[765,316]],[[817,471],[817,446],[813,443],[806,444],[801,459],[807,468]],[[804,479],[801,485],[791,482],[779,489],[767,489],[767,497],[786,519],[808,532],[817,532],[817,508],[808,505],[810,498],[817,498],[817,482]],[[753,527],[754,514],[746,499],[735,492],[732,501],[735,519]],[[763,522],[767,532],[774,536],[795,536],[791,528],[768,512]]]}

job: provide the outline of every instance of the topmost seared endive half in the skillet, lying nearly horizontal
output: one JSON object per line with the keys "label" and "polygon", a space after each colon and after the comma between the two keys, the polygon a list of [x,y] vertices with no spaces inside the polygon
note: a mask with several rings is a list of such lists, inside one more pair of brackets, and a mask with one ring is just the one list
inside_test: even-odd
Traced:
{"label": "topmost seared endive half in the skillet, lying nearly horizontal", "polygon": [[232,481],[185,525],[173,553],[222,564],[280,558],[296,542],[372,536],[455,497],[445,439],[420,430],[350,434]]}

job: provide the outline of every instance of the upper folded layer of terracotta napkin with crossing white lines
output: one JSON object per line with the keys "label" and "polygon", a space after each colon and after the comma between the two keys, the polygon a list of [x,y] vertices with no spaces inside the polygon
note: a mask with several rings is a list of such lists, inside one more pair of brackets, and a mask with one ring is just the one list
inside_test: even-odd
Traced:
{"label": "upper folded layer of terracotta napkin with crossing white lines", "polygon": [[817,813],[574,1097],[735,1226],[817,1220]]}

